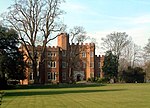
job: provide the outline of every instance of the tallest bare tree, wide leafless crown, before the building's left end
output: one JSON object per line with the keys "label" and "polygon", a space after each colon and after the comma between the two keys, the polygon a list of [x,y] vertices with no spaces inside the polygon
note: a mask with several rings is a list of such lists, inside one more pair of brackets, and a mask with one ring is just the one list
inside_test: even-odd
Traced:
{"label": "tallest bare tree, wide leafless crown, before the building's left end", "polygon": [[[62,0],[15,0],[4,13],[3,19],[13,27],[20,36],[22,45],[32,61],[34,81],[37,82],[38,62],[43,62],[43,54],[49,41],[55,39],[54,32],[63,30],[59,16],[63,14],[60,9]],[[42,43],[42,51],[37,60],[36,45]],[[30,49],[32,53],[30,53]]]}

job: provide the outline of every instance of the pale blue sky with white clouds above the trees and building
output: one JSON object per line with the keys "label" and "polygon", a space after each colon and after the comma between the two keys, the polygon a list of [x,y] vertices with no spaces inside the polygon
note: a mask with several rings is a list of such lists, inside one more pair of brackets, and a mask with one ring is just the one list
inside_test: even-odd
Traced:
{"label": "pale blue sky with white clouds above the trees and building", "polygon": [[[0,12],[11,1],[0,0]],[[83,26],[99,45],[112,32],[126,32],[142,47],[150,38],[150,0],[66,0],[62,8],[68,28]]]}

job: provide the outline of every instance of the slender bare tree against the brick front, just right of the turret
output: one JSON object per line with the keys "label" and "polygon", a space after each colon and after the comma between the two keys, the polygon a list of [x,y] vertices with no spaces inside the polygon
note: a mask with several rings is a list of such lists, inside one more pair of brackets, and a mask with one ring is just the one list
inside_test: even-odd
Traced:
{"label": "slender bare tree against the brick front, just right of the turret", "polygon": [[[68,56],[68,71],[69,71],[69,80],[72,81],[73,71],[75,68],[81,67],[79,63],[79,56],[84,50],[82,43],[85,42],[88,37],[86,36],[86,32],[83,27],[75,26],[73,29],[70,29],[69,32],[70,37],[70,48],[67,53]],[[81,46],[81,47],[80,47]]]}

